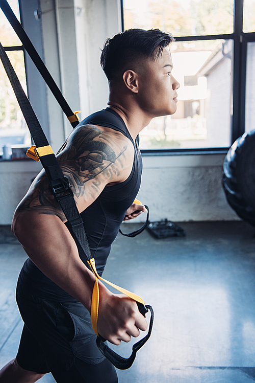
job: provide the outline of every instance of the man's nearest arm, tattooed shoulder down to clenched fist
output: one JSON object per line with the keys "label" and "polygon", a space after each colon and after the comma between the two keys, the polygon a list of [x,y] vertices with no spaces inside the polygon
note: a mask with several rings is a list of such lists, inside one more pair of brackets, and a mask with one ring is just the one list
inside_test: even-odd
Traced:
{"label": "man's nearest arm, tattooed shoulder down to clenched fist", "polygon": [[[123,182],[133,158],[133,145],[121,133],[95,126],[75,129],[58,161],[78,210],[92,204],[106,185]],[[65,221],[42,171],[16,209],[13,232],[37,267],[90,311],[94,275],[81,261]],[[119,344],[146,327],[134,301],[112,294],[100,283],[98,331],[102,336]]]}

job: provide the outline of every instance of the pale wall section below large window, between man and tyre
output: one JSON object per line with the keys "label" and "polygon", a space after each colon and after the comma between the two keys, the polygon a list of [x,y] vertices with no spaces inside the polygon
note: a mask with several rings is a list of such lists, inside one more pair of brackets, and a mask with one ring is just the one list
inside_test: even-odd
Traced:
{"label": "pale wall section below large window, between man and tyre", "polygon": [[137,198],[148,205],[150,221],[239,219],[221,186],[223,160],[222,154],[144,156]]}

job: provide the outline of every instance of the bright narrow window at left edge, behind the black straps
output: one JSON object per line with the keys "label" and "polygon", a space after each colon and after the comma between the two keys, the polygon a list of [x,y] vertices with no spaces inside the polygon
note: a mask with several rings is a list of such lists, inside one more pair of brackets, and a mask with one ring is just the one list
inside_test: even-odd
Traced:
{"label": "bright narrow window at left edge, behind the black straps", "polygon": [[[19,18],[18,0],[8,2]],[[0,36],[14,70],[27,92],[23,48],[2,10],[0,10]],[[23,157],[25,151],[23,148],[29,146],[31,146],[30,132],[0,60],[0,156],[2,159]]]}

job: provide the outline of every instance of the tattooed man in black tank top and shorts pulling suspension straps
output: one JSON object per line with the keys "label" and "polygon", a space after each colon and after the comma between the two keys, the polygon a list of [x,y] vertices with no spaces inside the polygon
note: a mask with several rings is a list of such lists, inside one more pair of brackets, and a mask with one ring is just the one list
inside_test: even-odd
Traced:
{"label": "tattooed man in black tank top and shorts pulling suspension straps", "polygon": [[[136,138],[152,118],[176,111],[180,84],[171,74],[172,40],[159,30],[133,29],[106,41],[101,65],[109,80],[109,107],[82,121],[58,155],[99,274],[122,220],[146,211],[133,203],[141,177]],[[17,357],[2,369],[1,383],[32,383],[49,371],[58,383],[117,382],[91,328],[94,275],[82,261],[44,171],[20,202],[12,228],[29,256],[17,285],[25,324]],[[146,330],[136,302],[101,283],[99,289],[101,336],[119,345]]]}

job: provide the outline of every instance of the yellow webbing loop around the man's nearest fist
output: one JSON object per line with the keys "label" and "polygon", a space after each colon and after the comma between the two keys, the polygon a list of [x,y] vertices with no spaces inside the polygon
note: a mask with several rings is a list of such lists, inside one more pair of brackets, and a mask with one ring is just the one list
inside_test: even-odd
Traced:
{"label": "yellow webbing loop around the man's nearest fist", "polygon": [[97,271],[96,271],[96,266],[95,266],[94,258],[90,259],[90,261],[88,261],[88,264],[90,265],[90,267],[91,267],[91,269],[92,269],[92,271],[93,271],[93,273],[94,273],[94,275],[96,277],[94,288],[93,288],[93,292],[92,292],[91,313],[90,313],[90,315],[91,315],[91,323],[92,323],[93,330],[95,331],[96,335],[98,336],[98,332],[97,332],[97,319],[98,319],[98,308],[99,308],[99,286],[98,286],[98,279],[100,279],[101,281],[106,282],[110,286],[114,287],[116,290],[122,292],[122,294],[125,294],[127,297],[129,297],[131,299],[134,299],[134,301],[140,302],[143,305],[145,305],[145,303],[144,303],[144,301],[143,301],[143,299],[141,297],[139,297],[138,295],[134,294],[133,292],[128,291],[128,290],[126,290],[126,289],[124,289],[122,287],[119,287],[119,286],[115,285],[112,282],[107,281],[104,278],[99,277],[99,275],[97,274]]}

